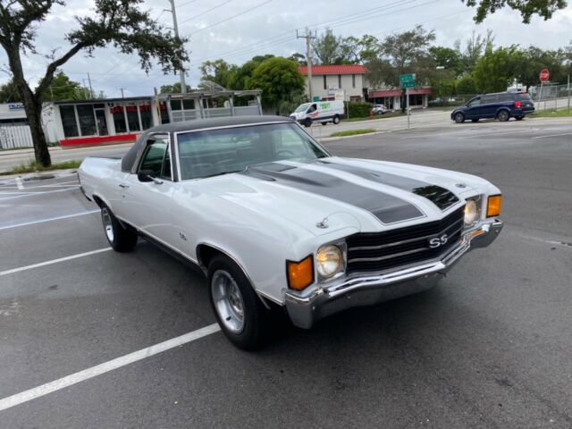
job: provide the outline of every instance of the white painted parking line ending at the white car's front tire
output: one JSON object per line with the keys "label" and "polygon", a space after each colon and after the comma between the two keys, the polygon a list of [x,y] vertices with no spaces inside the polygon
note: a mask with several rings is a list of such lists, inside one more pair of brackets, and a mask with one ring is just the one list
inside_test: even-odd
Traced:
{"label": "white painted parking line ending at the white car's front tire", "polygon": [[130,353],[129,355],[117,357],[103,364],[84,369],[78,373],[67,375],[63,378],[60,378],[59,380],[55,380],[55,382],[42,384],[41,386],[30,389],[29,391],[22,391],[21,393],[9,396],[8,398],[4,398],[4,400],[0,400],[0,411],[15,407],[24,402],[28,402],[29,400],[35,400],[36,398],[47,395],[48,393],[60,391],[66,387],[70,387],[73,384],[83,382],[90,378],[96,377],[97,375],[108,373],[114,369],[132,364],[133,362],[137,362],[141,359],[145,359],[146,357],[155,356],[156,354],[162,353],[165,350],[174,349],[175,347],[182,346],[183,344],[187,344],[191,341],[197,341],[200,338],[206,337],[207,335],[211,335],[212,333],[218,332],[220,330],[221,328],[218,324],[209,324],[208,326],[200,328],[197,331],[185,333],[180,337],[172,338],[171,340],[160,342],[154,346],[147,347],[147,349],[140,349]]}

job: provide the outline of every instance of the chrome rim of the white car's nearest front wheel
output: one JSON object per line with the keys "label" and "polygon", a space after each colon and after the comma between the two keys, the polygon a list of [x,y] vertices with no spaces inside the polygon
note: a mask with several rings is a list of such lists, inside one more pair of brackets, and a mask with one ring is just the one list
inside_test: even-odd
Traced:
{"label": "chrome rim of the white car's nearest front wheel", "polygon": [[224,327],[233,333],[244,329],[244,300],[231,274],[217,270],[211,281],[214,308]]}

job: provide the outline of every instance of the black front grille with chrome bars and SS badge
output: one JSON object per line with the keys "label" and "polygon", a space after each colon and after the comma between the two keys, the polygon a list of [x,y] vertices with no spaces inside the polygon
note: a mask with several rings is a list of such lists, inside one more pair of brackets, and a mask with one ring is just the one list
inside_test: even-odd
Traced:
{"label": "black front grille with chrome bars and SS badge", "polygon": [[[464,208],[440,221],[349,236],[347,273],[383,272],[446,255],[461,240]],[[430,246],[430,240],[435,247]]]}

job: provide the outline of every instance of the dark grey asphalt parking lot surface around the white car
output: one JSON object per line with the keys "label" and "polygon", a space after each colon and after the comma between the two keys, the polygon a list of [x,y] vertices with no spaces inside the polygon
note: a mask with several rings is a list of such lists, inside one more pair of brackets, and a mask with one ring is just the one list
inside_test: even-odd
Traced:
{"label": "dark grey asphalt parking lot surface around the white car", "polygon": [[572,428],[572,123],[325,146],[483,176],[505,228],[433,290],[251,353],[198,273],[142,240],[108,249],[73,174],[0,179],[0,428]]}

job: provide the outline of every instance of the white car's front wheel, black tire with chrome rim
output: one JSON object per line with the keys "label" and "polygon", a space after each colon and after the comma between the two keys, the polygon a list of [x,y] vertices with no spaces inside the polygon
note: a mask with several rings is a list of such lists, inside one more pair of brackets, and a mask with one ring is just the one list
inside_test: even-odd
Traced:
{"label": "white car's front wheel, black tire with chrome rim", "polygon": [[[229,257],[219,255],[208,265],[207,278],[211,306],[223,334],[239,349],[259,349],[268,338],[271,311],[258,298],[247,276]],[[235,290],[235,286],[240,291],[238,298],[235,291],[229,291]],[[240,306],[235,306],[237,302]],[[236,312],[238,307],[242,310],[241,318],[240,312]]]}

